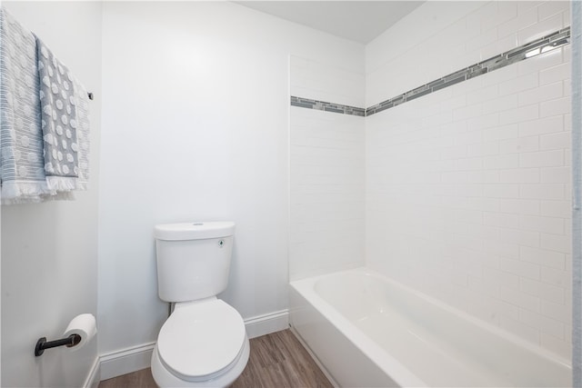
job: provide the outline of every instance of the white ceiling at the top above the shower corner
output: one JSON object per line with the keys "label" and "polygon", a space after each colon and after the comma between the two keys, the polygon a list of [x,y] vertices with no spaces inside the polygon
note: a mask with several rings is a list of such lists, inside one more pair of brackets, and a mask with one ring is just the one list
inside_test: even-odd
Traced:
{"label": "white ceiling at the top above the shower corner", "polygon": [[367,44],[424,1],[236,1],[235,3]]}

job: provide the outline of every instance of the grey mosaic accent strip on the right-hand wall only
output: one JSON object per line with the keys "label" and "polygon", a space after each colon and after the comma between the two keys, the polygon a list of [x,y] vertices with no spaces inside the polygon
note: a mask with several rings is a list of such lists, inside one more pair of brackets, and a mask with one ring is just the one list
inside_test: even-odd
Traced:
{"label": "grey mosaic accent strip on the right-hand wall only", "polygon": [[429,93],[437,92],[447,86],[458,84],[459,82],[467,81],[467,79],[475,78],[478,75],[485,75],[493,70],[500,69],[507,65],[515,64],[524,59],[546,53],[554,50],[562,45],[567,45],[570,40],[570,27],[563,28],[553,34],[546,35],[537,39],[534,42],[528,43],[509,50],[503,54],[494,56],[478,64],[468,66],[464,69],[458,70],[450,75],[445,75],[426,85],[416,87],[402,95],[397,95],[394,98],[383,101],[380,104],[372,105],[366,108],[366,116],[377,114],[388,108],[392,108],[399,104],[404,104],[407,101],[414,100],[421,95],[428,95]]}

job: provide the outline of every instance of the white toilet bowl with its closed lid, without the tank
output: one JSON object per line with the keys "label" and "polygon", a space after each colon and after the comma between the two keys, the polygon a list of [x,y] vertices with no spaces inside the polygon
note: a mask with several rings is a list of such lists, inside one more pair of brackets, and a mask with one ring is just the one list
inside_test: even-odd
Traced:
{"label": "white toilet bowl with its closed lid, without the tank", "polygon": [[245,369],[249,351],[233,307],[214,297],[177,303],[158,335],[152,374],[163,387],[226,387]]}

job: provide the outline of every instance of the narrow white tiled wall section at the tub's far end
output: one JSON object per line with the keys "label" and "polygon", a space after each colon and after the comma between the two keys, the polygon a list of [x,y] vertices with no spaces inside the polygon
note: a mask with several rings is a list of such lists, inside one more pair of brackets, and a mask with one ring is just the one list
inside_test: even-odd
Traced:
{"label": "narrow white tiled wall section at the tub's far end", "polygon": [[[291,95],[363,107],[363,71],[291,57]],[[365,117],[291,107],[289,277],[364,264]]]}

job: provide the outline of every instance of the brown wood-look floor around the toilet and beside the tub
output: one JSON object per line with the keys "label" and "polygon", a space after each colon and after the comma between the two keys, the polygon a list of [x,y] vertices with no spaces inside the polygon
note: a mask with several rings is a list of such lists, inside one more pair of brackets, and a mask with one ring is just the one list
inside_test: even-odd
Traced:
{"label": "brown wood-look floor around the toilet and beside the tub", "polygon": [[[253,338],[250,345],[245,371],[231,388],[333,387],[289,330]],[[99,388],[134,387],[157,387],[149,368],[99,383]]]}

